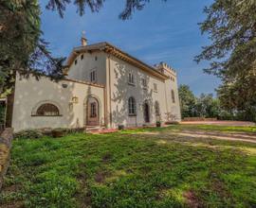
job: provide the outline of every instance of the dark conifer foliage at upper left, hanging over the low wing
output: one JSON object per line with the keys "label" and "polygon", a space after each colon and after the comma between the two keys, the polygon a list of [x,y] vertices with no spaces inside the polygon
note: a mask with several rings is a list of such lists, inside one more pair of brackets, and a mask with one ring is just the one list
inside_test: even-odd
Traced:
{"label": "dark conifer foliage at upper left, hanging over the low wing", "polygon": [[53,58],[41,38],[37,0],[0,2],[0,93],[13,88],[16,72],[62,78],[63,58]]}

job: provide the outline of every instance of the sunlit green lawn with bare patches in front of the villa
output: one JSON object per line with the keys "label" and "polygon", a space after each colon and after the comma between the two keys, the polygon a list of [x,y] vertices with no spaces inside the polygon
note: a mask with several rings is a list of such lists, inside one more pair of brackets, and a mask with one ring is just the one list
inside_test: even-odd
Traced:
{"label": "sunlit green lawn with bare patches in front of the villa", "polygon": [[0,201],[3,207],[255,207],[256,144],[167,136],[190,128],[214,129],[15,140]]}

